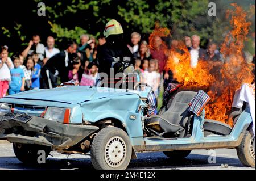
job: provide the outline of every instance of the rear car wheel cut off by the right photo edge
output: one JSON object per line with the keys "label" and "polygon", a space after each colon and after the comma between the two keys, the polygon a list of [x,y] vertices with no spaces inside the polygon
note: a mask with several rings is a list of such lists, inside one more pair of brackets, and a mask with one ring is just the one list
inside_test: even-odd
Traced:
{"label": "rear car wheel cut off by the right photo edge", "polygon": [[248,167],[255,167],[255,136],[252,131],[246,131],[241,144],[236,148],[241,163]]}

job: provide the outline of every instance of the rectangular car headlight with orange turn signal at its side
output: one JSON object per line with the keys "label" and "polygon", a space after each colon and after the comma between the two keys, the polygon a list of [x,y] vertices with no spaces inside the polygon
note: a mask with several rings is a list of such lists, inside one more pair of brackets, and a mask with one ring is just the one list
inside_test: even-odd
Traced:
{"label": "rectangular car headlight with orange turn signal at its side", "polygon": [[60,107],[48,107],[44,115],[45,119],[69,124],[70,109]]}

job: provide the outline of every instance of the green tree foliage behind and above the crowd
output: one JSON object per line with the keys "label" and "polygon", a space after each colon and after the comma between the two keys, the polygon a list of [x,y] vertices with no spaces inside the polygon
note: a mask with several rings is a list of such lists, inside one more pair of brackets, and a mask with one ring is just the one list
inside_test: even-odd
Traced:
{"label": "green tree foliage behind and above the crowd", "polygon": [[[42,17],[37,15],[39,2],[41,0],[20,1],[16,6],[26,9],[28,15],[20,11],[10,19],[13,23],[1,24],[0,38],[15,40],[18,46],[28,43],[36,28],[44,41],[48,35],[53,35],[56,43],[64,38],[79,42],[82,33],[97,36],[104,31],[108,20],[116,19],[122,24],[127,38],[133,31],[148,37],[158,22],[160,26],[170,28],[172,38],[181,39],[196,33],[201,36],[203,45],[208,39],[221,43],[229,24],[225,11],[231,8],[231,1],[224,0],[45,0],[46,16]],[[208,16],[209,2],[216,3],[217,16]],[[255,5],[255,1],[246,0],[242,5],[249,9],[250,4]],[[27,23],[30,17],[32,24]]]}

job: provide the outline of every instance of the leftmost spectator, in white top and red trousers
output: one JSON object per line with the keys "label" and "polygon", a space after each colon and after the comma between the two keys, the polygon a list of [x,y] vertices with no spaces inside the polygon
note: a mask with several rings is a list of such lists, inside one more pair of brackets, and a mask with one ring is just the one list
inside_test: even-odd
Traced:
{"label": "leftmost spectator, in white top and red trousers", "polygon": [[11,58],[8,57],[8,47],[3,46],[0,49],[0,98],[6,95],[11,81],[10,69],[14,68]]}

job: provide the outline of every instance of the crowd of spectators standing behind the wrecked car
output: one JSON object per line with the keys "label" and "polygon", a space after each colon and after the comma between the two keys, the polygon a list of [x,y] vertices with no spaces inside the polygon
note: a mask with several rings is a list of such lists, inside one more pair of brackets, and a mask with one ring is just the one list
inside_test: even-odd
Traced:
{"label": "crowd of spectators standing behind the wrecked car", "polygon": [[[65,49],[55,48],[55,39],[47,37],[46,46],[40,36],[32,36],[23,52],[9,57],[8,47],[0,49],[0,98],[6,94],[31,89],[56,87],[61,82],[73,80],[80,86],[95,86],[98,75],[97,49],[106,39],[100,35],[97,39],[90,35],[81,35],[80,44],[75,41],[64,42]],[[196,68],[200,60],[220,61],[223,57],[218,45],[210,41],[204,49],[200,46],[200,36],[185,36],[183,43],[191,54],[191,68]],[[171,41],[175,48],[177,40]],[[137,81],[150,85],[156,95],[164,81],[172,81],[172,72],[165,70],[168,57],[163,47],[163,39],[155,36],[151,47],[147,40],[142,40],[138,32],[131,33],[127,47],[133,53],[134,69],[138,73]],[[255,57],[254,57],[255,60]],[[57,69],[56,69],[57,68]]]}

